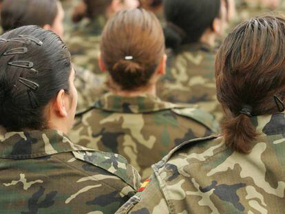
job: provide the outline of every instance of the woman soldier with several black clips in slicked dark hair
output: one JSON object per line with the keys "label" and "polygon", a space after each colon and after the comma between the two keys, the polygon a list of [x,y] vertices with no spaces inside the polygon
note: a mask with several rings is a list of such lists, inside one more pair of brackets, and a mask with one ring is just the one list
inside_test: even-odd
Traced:
{"label": "woman soldier with several black clips in slicked dark hair", "polygon": [[74,145],[70,53],[36,26],[0,37],[1,213],[114,213],[136,193],[136,170],[114,153]]}

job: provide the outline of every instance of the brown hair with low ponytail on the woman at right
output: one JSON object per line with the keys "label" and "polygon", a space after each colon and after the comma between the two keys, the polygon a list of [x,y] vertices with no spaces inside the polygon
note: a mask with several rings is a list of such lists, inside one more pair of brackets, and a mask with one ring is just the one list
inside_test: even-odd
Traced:
{"label": "brown hair with low ponytail on the woman at right", "polygon": [[251,118],[274,114],[277,94],[285,98],[285,19],[266,15],[237,26],[222,43],[215,62],[217,96],[226,111],[222,133],[226,145],[249,153],[257,133]]}

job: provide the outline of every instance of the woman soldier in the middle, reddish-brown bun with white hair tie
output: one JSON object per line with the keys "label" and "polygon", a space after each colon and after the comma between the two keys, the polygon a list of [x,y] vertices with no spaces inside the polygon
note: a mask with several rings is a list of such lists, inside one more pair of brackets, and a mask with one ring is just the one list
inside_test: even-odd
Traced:
{"label": "woman soldier in the middle, reddish-brown bun with white hair tie", "polygon": [[109,75],[111,93],[78,115],[74,142],[116,151],[147,178],[151,164],[170,149],[216,131],[213,116],[156,96],[165,61],[165,39],[155,15],[143,9],[118,12],[101,40],[100,65]]}

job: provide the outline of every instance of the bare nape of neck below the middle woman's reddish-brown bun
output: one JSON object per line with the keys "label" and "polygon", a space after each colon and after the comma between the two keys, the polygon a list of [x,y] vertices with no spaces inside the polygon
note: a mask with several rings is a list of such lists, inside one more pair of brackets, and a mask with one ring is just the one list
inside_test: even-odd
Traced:
{"label": "bare nape of neck below the middle woman's reddish-brown bun", "polygon": [[148,87],[141,88],[141,89],[136,89],[134,91],[125,91],[125,90],[120,90],[120,89],[111,89],[111,92],[113,94],[116,94],[118,96],[140,96],[142,94],[148,94],[151,96],[156,96],[156,85],[149,85]]}

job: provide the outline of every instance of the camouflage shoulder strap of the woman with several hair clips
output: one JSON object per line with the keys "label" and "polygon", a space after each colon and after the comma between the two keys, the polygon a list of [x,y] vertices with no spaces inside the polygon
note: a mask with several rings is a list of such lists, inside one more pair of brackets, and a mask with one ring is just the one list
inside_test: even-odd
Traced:
{"label": "camouflage shoulder strap of the woman with several hair clips", "polygon": [[135,190],[139,188],[140,175],[123,156],[103,151],[73,151],[72,153],[77,160],[82,160],[116,175]]}

